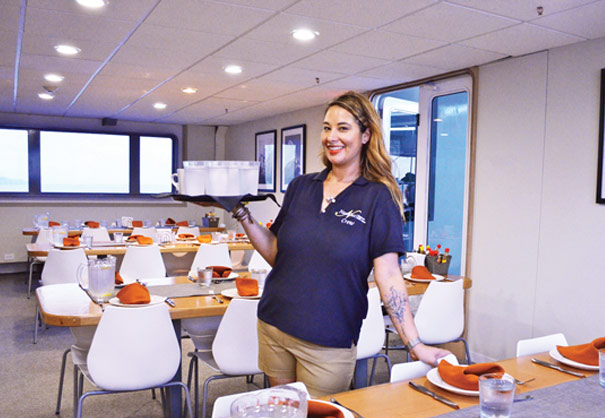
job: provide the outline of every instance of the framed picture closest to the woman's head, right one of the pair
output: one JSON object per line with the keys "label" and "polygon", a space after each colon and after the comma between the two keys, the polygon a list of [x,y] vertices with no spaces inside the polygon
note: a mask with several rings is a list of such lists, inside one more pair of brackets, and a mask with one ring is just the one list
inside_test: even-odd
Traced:
{"label": "framed picture closest to the woman's head, right one of the pair", "polygon": [[305,172],[305,135],[307,125],[281,130],[281,191],[285,192],[294,177]]}

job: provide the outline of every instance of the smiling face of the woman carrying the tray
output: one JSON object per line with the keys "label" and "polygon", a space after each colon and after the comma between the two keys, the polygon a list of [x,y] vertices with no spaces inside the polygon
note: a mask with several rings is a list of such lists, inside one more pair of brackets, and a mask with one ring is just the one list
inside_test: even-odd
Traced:
{"label": "smiling face of the woman carrying the tray", "polygon": [[355,117],[340,106],[332,106],[324,116],[321,144],[333,167],[359,168],[361,149],[370,140],[370,130],[359,129]]}

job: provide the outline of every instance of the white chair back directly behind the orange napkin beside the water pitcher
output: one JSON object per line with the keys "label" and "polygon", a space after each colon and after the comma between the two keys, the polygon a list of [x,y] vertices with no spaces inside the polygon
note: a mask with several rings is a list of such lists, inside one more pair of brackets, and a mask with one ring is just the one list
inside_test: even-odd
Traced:
{"label": "white chair back directly behind the orange napkin beside the water pitcher", "polygon": [[132,283],[136,279],[166,277],[166,266],[160,247],[155,244],[128,247],[120,266],[120,276],[124,279],[124,283]]}

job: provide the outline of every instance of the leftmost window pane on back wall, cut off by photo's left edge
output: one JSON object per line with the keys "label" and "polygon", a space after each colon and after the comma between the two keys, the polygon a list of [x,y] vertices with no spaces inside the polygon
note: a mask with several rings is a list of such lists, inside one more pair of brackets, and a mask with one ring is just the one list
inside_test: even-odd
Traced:
{"label": "leftmost window pane on back wall, cut off by photo's left edge", "polygon": [[27,131],[0,129],[0,192],[29,191]]}

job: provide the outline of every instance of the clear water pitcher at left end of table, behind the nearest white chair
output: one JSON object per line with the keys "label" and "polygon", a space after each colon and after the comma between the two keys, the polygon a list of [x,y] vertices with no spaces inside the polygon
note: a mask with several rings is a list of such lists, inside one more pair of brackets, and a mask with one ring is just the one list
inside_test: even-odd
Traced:
{"label": "clear water pitcher at left end of table, behind the nearest white chair", "polygon": [[80,264],[77,274],[80,286],[99,303],[107,302],[113,297],[115,275],[116,258],[111,255]]}

